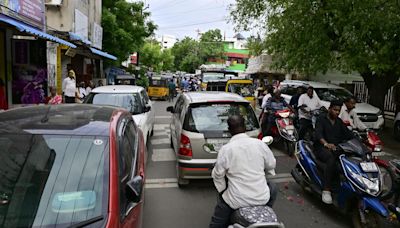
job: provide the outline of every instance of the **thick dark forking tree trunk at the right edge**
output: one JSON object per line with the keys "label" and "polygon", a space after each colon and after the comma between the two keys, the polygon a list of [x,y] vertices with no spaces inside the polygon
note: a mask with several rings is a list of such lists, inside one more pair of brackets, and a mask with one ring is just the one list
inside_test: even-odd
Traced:
{"label": "thick dark forking tree trunk at the right edge", "polygon": [[369,103],[380,108],[383,112],[385,95],[396,84],[399,75],[396,75],[394,72],[385,72],[380,75],[373,74],[372,72],[363,72],[361,76],[368,88]]}

